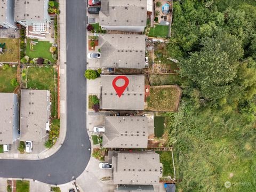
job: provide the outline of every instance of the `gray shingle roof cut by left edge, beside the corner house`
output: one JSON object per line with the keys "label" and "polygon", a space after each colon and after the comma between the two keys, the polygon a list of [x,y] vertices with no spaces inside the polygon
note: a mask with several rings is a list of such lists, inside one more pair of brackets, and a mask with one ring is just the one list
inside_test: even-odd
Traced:
{"label": "gray shingle roof cut by left edge, beside the corner house", "polygon": [[12,143],[13,93],[0,93],[0,145]]}

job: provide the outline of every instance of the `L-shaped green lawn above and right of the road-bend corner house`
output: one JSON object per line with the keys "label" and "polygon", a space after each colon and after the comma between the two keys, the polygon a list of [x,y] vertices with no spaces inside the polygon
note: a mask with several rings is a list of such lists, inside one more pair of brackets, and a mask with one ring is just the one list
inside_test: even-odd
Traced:
{"label": "L-shaped green lawn above and right of the road-bend corner house", "polygon": [[[50,90],[51,92],[51,113],[53,117],[57,117],[57,92],[54,90],[54,83],[57,84],[57,71],[53,67],[30,67],[28,68],[27,89]],[[57,86],[57,85],[56,85]]]}

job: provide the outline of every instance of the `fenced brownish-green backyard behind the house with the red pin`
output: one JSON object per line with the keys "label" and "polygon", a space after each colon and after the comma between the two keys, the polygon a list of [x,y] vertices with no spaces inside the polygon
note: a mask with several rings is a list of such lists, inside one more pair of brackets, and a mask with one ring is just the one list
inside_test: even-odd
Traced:
{"label": "fenced brownish-green backyard behind the house with the red pin", "polygon": [[182,90],[178,85],[151,86],[147,110],[177,111]]}

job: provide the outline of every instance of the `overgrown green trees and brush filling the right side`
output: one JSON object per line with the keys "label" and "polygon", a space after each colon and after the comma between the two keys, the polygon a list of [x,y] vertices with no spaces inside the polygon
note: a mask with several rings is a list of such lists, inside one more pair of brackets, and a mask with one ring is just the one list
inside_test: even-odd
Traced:
{"label": "overgrown green trees and brush filling the right side", "polygon": [[[183,98],[165,113],[179,191],[254,191],[256,3],[174,1],[168,56]],[[238,185],[237,185],[238,183]]]}

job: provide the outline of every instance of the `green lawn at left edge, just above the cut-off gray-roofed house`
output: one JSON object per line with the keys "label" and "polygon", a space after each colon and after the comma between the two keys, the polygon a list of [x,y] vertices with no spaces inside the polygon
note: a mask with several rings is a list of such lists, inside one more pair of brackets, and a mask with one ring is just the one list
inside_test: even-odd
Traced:
{"label": "green lawn at left edge, just above the cut-off gray-roofed house", "polygon": [[17,67],[9,67],[6,70],[0,69],[0,92],[12,93],[15,89],[11,85],[11,79],[17,77]]}

